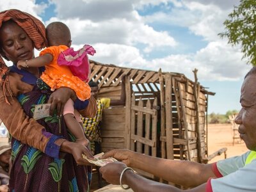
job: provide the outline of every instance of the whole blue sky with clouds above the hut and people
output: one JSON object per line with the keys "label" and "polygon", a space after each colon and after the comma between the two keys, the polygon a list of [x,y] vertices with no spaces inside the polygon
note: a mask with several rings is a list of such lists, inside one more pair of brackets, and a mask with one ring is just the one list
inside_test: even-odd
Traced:
{"label": "whole blue sky with clouds above the hut and people", "polygon": [[[179,72],[209,92],[208,113],[239,110],[241,84],[251,66],[239,45],[218,35],[239,0],[0,0],[44,22],[67,24],[72,47],[92,45],[91,60],[121,67]],[[38,54],[38,52],[36,52]]]}

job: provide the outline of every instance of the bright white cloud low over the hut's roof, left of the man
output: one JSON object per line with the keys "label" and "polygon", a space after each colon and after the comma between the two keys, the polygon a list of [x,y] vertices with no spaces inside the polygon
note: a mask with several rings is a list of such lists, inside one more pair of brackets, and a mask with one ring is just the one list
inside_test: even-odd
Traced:
{"label": "bright white cloud low over the hut's roof, left of the man", "polygon": [[[227,45],[227,42],[211,42],[196,54],[172,54],[165,58],[144,61],[142,67],[182,73],[191,80],[194,79],[193,70],[197,68],[200,81],[238,81],[251,68],[241,57],[239,49]],[[132,67],[141,68],[136,63],[131,63]]]}

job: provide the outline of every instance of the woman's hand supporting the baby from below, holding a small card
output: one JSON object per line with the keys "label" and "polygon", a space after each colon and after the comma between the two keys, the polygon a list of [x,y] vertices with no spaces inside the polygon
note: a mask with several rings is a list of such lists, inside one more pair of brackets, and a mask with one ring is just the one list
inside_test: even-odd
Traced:
{"label": "woman's hand supporting the baby from below, holding a small card", "polygon": [[52,92],[48,100],[48,103],[51,104],[50,115],[53,115],[54,109],[57,109],[57,115],[62,115],[68,99],[76,100],[76,93],[70,88],[61,87]]}

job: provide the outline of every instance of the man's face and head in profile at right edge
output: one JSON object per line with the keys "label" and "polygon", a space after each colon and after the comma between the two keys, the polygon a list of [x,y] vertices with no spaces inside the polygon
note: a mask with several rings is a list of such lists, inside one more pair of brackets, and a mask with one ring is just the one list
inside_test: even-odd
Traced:
{"label": "man's face and head in profile at right edge", "polygon": [[240,102],[242,109],[236,117],[239,133],[246,147],[256,150],[256,75],[251,74],[244,79],[241,88]]}

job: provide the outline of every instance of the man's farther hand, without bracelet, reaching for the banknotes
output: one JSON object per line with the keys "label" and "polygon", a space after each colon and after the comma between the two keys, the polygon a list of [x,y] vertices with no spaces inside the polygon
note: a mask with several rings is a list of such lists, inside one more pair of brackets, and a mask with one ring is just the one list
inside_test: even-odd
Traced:
{"label": "man's farther hand, without bracelet, reaching for the banknotes", "polygon": [[123,163],[127,164],[127,166],[131,166],[132,156],[136,154],[128,149],[114,149],[109,152],[106,152],[100,159],[106,159],[108,157],[114,157],[118,161],[122,161]]}

